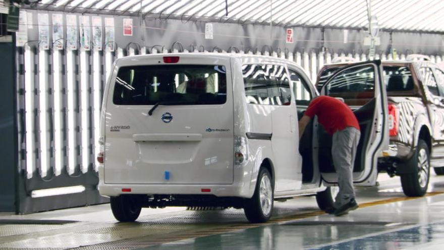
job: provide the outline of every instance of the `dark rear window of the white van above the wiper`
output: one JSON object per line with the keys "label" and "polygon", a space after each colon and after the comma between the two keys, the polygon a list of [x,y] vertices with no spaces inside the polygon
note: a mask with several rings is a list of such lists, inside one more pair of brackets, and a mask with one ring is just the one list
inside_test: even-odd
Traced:
{"label": "dark rear window of the white van above the wiper", "polygon": [[121,67],[113,95],[116,105],[211,105],[226,100],[227,74],[222,65]]}

